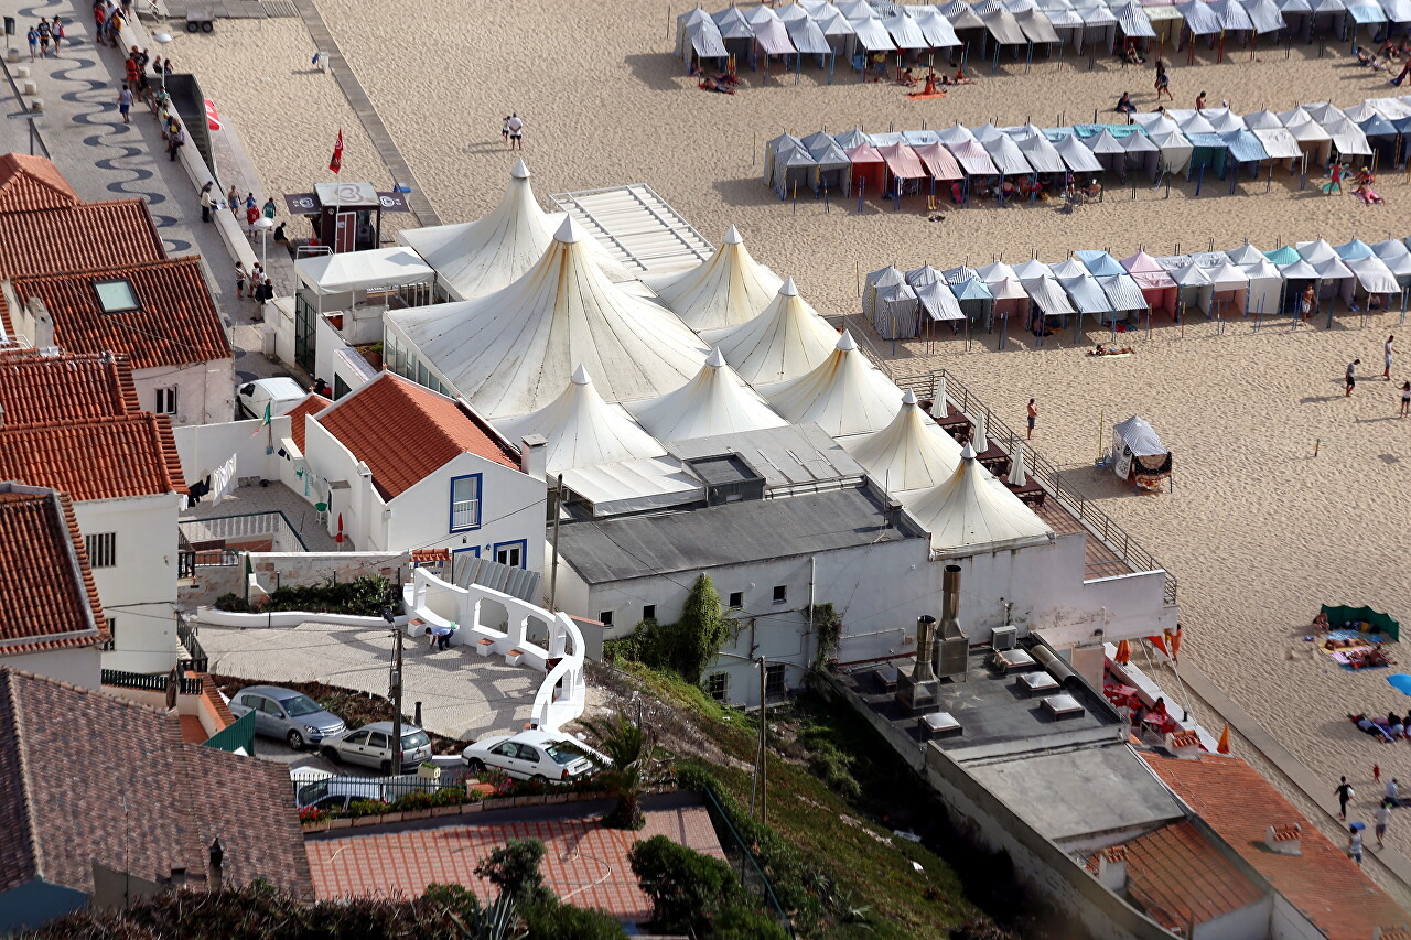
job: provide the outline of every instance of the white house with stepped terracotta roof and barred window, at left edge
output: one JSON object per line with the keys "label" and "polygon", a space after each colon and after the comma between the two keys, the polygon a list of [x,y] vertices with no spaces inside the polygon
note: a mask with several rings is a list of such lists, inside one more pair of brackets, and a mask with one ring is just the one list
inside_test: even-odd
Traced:
{"label": "white house with stepped terracotta roof and barred window, at left edge", "polygon": [[188,493],[171,419],[141,411],[126,363],[107,356],[28,350],[0,363],[0,480],[73,501],[111,635],[103,668],[166,672]]}

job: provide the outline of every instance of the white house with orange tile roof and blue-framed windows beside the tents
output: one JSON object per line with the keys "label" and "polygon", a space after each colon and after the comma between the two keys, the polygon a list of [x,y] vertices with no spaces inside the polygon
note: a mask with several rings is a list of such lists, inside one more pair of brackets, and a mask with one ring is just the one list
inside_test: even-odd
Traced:
{"label": "white house with orange tile roof and blue-framed windows beside the tents", "polygon": [[514,447],[464,404],[384,373],[305,418],[330,534],[363,552],[444,548],[542,570],[543,442]]}

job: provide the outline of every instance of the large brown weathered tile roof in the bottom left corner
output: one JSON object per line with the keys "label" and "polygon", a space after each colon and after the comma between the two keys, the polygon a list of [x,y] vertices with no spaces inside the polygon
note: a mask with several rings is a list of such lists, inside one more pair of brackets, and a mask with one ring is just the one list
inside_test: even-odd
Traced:
{"label": "large brown weathered tile roof in the bottom left corner", "polygon": [[183,744],[175,714],[0,669],[0,892],[89,892],[93,862],[150,881],[185,868],[202,891],[217,837],[224,885],[312,895],[284,768]]}

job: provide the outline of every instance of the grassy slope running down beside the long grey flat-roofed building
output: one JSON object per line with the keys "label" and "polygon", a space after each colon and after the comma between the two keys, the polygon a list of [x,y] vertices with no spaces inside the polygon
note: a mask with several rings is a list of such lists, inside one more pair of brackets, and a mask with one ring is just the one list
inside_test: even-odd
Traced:
{"label": "grassy slope running down beside the long grey flat-roofed building", "polygon": [[[687,723],[693,723],[729,758],[731,766],[701,761],[735,800],[749,806],[751,773],[737,762],[752,764],[758,740],[753,716],[721,707],[698,687],[674,676],[626,665],[652,697],[660,700]],[[825,871],[838,885],[845,908],[868,908],[866,922],[842,923],[832,917],[816,936],[828,937],[948,937],[961,924],[983,923],[979,909],[965,898],[955,871],[920,844],[892,836],[890,830],[868,816],[883,817],[893,800],[910,796],[910,779],[900,779],[896,766],[879,759],[879,742],[868,742],[852,727],[848,716],[835,709],[809,709],[804,716],[783,711],[786,723],[807,720],[827,727],[844,751],[856,758],[855,775],[864,796],[851,805],[817,779],[807,765],[773,752],[769,762],[769,823],[804,860]],[[792,748],[787,738],[793,728],[777,728],[777,748]],[[662,744],[670,749],[670,734]],[[797,749],[794,748],[797,752]],[[910,772],[906,772],[910,776]],[[912,862],[921,865],[917,871]],[[803,936],[803,934],[801,934]]]}

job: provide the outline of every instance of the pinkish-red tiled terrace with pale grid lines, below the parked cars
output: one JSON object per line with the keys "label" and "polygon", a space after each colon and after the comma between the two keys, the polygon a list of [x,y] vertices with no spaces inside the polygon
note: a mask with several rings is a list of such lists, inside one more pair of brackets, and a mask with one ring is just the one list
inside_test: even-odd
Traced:
{"label": "pinkish-red tiled terrace with pale grid lines, below the parked cars", "polygon": [[461,884],[488,900],[492,888],[474,871],[480,860],[511,838],[539,838],[547,850],[539,871],[560,898],[571,892],[576,906],[601,908],[641,923],[652,916],[652,902],[638,886],[626,858],[635,841],[666,836],[724,858],[704,806],[646,809],[645,814],[646,827],[629,833],[604,828],[597,816],[523,820],[485,813],[470,817],[476,819],[474,826],[310,840],[309,865],[313,888],[325,900],[420,898],[432,882]]}

